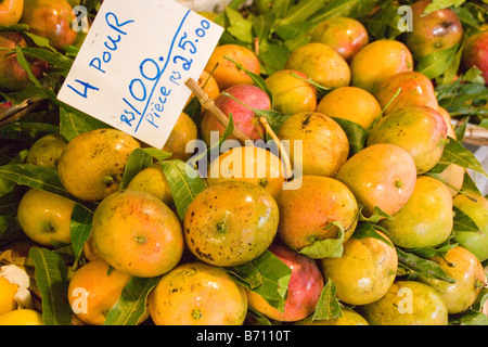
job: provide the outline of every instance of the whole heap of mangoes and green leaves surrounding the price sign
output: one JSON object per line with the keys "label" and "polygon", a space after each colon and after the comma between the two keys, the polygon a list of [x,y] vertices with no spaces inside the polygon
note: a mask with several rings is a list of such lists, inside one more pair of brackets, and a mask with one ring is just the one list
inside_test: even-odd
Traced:
{"label": "whole heap of mangoes and green leaves surrounding the price sign", "polygon": [[179,2],[160,149],[56,98],[102,1],[0,3],[0,325],[488,325],[488,2]]}

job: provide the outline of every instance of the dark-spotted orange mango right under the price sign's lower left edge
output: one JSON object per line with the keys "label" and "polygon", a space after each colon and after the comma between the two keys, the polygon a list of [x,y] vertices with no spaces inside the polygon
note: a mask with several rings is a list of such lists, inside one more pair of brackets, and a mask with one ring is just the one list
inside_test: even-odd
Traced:
{"label": "dark-spotted orange mango right under the price sign's lower left edge", "polygon": [[116,129],[81,133],[61,154],[61,183],[75,197],[101,201],[118,190],[127,159],[138,147],[136,139]]}

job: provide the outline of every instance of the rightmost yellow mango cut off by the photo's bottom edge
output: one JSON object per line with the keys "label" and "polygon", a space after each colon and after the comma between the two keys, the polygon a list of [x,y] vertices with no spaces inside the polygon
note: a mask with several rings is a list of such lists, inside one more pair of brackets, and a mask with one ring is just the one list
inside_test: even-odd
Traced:
{"label": "rightmost yellow mango cut off by the photo's bottom edge", "polygon": [[416,281],[396,281],[380,300],[362,306],[361,313],[371,325],[448,324],[446,303],[434,288]]}

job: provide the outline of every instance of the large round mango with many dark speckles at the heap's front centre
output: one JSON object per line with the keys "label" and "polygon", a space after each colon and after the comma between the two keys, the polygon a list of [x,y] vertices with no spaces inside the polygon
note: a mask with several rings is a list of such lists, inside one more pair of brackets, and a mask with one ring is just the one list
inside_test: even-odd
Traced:
{"label": "large round mango with many dark speckles at the heap's front centre", "polygon": [[232,267],[252,261],[271,245],[279,209],[264,188],[244,181],[210,185],[189,205],[184,240],[193,255],[207,264]]}

